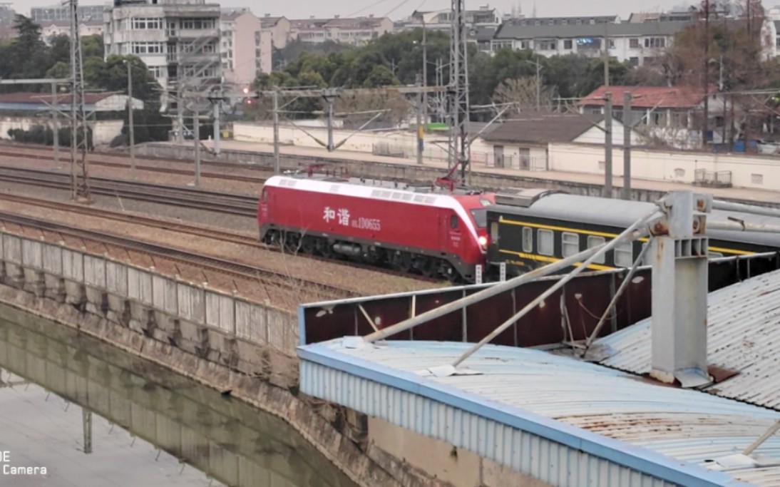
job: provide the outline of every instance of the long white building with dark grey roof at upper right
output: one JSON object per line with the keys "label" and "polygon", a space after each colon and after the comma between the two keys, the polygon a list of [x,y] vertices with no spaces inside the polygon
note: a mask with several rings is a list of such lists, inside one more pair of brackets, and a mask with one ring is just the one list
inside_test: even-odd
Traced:
{"label": "long white building with dark grey roof at upper right", "polygon": [[621,23],[618,16],[532,18],[512,20],[498,27],[491,51],[530,49],[540,55],[604,55],[642,66],[654,61],[672,45],[687,21]]}

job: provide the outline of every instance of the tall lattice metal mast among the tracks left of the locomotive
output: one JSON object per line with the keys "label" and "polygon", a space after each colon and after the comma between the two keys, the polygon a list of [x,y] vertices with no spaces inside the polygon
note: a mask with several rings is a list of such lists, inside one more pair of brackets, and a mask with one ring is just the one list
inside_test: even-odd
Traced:
{"label": "tall lattice metal mast among the tracks left of the locomotive", "polygon": [[[70,187],[73,200],[91,201],[87,144],[89,130],[84,109],[84,73],[79,35],[79,2],[68,0],[70,9]],[[55,134],[57,137],[57,134]]]}

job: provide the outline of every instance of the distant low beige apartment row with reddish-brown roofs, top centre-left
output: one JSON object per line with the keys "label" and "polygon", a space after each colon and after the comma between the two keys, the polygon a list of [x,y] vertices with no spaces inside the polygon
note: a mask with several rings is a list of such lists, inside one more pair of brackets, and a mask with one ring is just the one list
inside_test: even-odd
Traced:
{"label": "distant low beige apartment row with reddish-brown roofs, top centre-left", "polygon": [[387,17],[352,17],[342,19],[290,20],[290,38],[307,44],[321,44],[325,41],[363,45],[371,39],[392,32],[392,20]]}

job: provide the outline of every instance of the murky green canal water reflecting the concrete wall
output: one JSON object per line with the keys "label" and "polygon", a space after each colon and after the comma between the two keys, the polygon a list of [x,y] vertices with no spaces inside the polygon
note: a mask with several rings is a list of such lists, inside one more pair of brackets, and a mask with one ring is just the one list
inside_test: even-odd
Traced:
{"label": "murky green canal water reflecting the concrete wall", "polygon": [[0,486],[353,487],[285,422],[0,305]]}

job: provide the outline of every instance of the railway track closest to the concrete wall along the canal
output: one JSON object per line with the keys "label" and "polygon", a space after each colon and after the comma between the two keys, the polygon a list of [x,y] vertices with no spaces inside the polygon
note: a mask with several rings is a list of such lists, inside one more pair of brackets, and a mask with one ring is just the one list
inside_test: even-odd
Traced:
{"label": "railway track closest to the concrete wall along the canal", "polygon": [[165,258],[169,261],[179,262],[184,265],[196,265],[210,271],[232,275],[239,279],[252,279],[258,283],[263,283],[267,286],[281,287],[285,290],[296,292],[313,290],[317,293],[332,297],[332,299],[355,297],[357,295],[357,293],[327,283],[321,283],[310,279],[298,279],[282,272],[275,272],[266,268],[259,268],[236,261],[196,254],[173,247],[165,247],[158,243],[149,243],[126,236],[117,236],[112,233],[97,232],[95,230],[87,229],[74,229],[73,227],[60,223],[47,222],[27,216],[14,215],[8,212],[0,212],[0,222],[14,223],[20,226],[27,226],[80,239],[92,240],[97,243],[108,243],[125,249],[138,251],[143,254]]}

